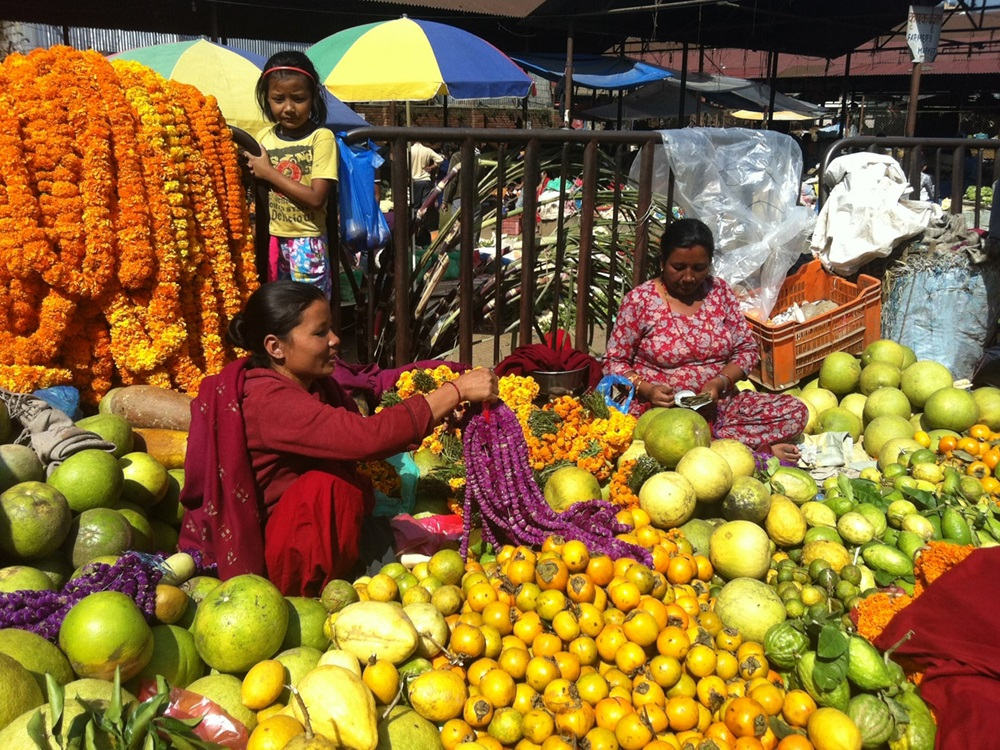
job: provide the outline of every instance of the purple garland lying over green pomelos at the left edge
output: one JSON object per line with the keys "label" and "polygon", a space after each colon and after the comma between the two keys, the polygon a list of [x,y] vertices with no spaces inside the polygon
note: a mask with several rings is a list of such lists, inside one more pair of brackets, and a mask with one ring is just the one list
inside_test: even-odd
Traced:
{"label": "purple garland lying over green pomelos at the left edge", "polygon": [[160,558],[127,552],[114,565],[94,563],[61,592],[14,591],[0,594],[0,628],[29,630],[53,643],[66,614],[77,602],[97,591],[120,591],[133,599],[146,620],[155,622],[156,585],[163,577]]}

